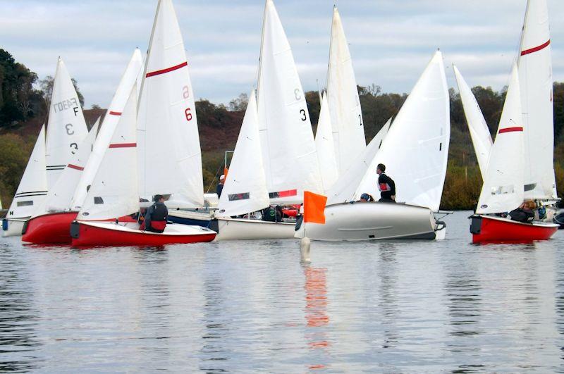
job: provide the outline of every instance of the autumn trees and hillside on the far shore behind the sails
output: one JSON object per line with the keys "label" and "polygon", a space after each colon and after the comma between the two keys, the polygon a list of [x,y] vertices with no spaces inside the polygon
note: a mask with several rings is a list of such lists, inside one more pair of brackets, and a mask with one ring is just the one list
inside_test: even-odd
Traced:
{"label": "autumn trees and hillside on the far shore behind the sails", "polygon": [[[80,104],[84,105],[78,85],[74,80],[73,83]],[[18,187],[39,127],[47,123],[52,87],[52,77],[39,80],[36,73],[0,49],[0,197],[4,207],[9,204]],[[389,118],[396,116],[407,94],[384,93],[377,85],[359,86],[358,92],[364,133],[369,142]],[[477,86],[472,88],[472,92],[494,137],[505,101],[505,89],[495,91],[491,87]],[[460,94],[453,88],[449,93],[451,137],[441,208],[473,209],[482,188],[482,177],[467,130]],[[320,109],[319,93],[309,91],[305,97],[315,131]],[[223,168],[223,152],[235,147],[247,100],[247,94],[240,94],[227,105],[213,104],[205,99],[196,101],[205,189],[210,187],[210,190],[214,190],[216,174]],[[554,83],[553,102],[556,182],[558,195],[563,196],[564,82]],[[85,110],[85,116],[99,113],[99,109],[99,106],[93,105],[92,109]]]}

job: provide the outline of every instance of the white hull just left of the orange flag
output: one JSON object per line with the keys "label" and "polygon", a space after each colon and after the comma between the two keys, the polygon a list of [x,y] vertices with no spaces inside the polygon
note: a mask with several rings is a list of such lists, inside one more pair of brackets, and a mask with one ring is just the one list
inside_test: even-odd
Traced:
{"label": "white hull just left of the orange flag", "polygon": [[[295,223],[267,222],[242,218],[216,218],[216,241],[244,239],[291,239]],[[215,223],[215,221],[214,221]],[[212,229],[214,225],[212,225]]]}

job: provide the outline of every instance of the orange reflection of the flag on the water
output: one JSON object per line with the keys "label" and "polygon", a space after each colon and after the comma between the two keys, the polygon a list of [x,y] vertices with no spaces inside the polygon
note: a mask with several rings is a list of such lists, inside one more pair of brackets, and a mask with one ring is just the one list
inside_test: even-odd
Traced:
{"label": "orange reflection of the flag on the water", "polygon": [[309,349],[315,351],[312,355],[318,361],[309,365],[309,370],[326,369],[327,349],[331,347],[327,331],[329,325],[327,314],[327,269],[304,267],[305,275],[305,339]]}

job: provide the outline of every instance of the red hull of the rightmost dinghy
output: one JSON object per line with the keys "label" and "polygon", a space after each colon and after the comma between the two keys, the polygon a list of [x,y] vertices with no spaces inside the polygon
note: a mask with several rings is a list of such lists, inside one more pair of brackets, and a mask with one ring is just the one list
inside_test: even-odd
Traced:
{"label": "red hull of the rightmost dinghy", "polygon": [[530,243],[547,240],[558,231],[551,223],[521,223],[491,216],[472,216],[472,243]]}

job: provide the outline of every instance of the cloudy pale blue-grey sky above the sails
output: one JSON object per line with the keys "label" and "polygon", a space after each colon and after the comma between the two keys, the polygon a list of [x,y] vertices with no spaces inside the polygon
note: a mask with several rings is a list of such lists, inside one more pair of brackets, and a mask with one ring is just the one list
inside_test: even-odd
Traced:
{"label": "cloudy pale blue-grey sky above the sails", "polygon": [[[336,3],[359,85],[409,92],[440,48],[470,85],[508,82],[526,0],[275,0],[305,90],[324,87]],[[227,103],[255,84],[263,0],[175,0],[195,95]],[[0,0],[0,47],[39,77],[62,56],[86,107],[106,107],[130,54],[147,49],[157,0]],[[548,0],[564,80],[564,1]],[[452,69],[447,68],[451,87]]]}

